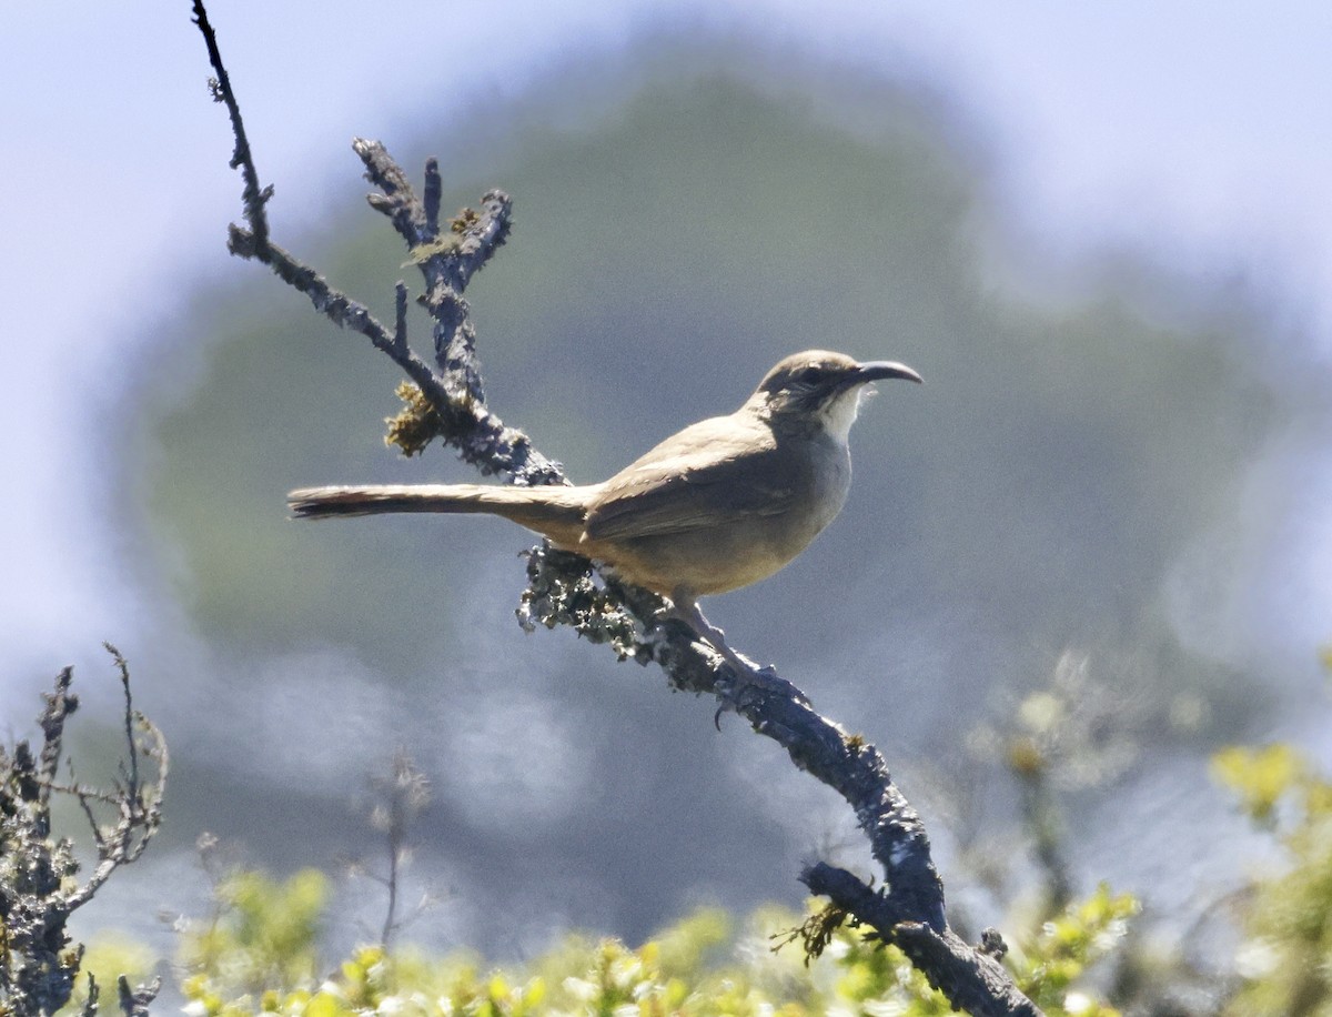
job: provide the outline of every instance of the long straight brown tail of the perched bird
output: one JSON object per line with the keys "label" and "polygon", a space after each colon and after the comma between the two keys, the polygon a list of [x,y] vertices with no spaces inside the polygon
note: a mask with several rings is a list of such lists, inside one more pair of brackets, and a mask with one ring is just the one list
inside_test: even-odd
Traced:
{"label": "long straight brown tail of the perched bird", "polygon": [[384,512],[461,512],[502,516],[557,544],[575,545],[587,488],[488,484],[373,484],[301,488],[286,496],[296,518],[374,516]]}

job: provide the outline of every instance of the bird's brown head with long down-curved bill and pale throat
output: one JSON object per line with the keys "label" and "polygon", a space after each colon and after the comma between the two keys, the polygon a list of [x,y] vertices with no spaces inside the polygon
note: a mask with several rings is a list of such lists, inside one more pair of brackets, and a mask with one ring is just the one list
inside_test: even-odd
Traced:
{"label": "bird's brown head with long down-curved bill and pale throat", "polygon": [[749,404],[774,425],[822,427],[846,441],[855,423],[866,385],[882,379],[920,381],[906,364],[871,360],[864,364],[846,353],[807,349],[793,353],[767,372]]}

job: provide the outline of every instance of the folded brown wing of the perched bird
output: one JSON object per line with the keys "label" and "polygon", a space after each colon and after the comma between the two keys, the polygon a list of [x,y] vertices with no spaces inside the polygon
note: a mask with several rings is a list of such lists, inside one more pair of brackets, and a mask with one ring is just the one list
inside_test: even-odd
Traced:
{"label": "folded brown wing of the perched bird", "polygon": [[649,537],[779,514],[795,491],[774,469],[775,453],[759,421],[693,424],[607,480],[585,532],[593,540]]}

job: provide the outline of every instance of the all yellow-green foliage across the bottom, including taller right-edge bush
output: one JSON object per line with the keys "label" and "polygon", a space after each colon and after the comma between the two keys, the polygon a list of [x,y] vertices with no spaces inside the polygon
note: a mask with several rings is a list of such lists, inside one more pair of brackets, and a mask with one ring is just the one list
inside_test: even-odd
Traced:
{"label": "all yellow-green foliage across the bottom, including taller right-edge bush", "polygon": [[[1213,978],[1203,1004],[1172,1009],[1163,1001],[1180,998],[1175,990],[1196,970],[1158,956],[1148,965],[1151,984],[1135,978],[1135,970],[1147,970],[1140,944],[1128,936],[1139,904],[1100,885],[1011,934],[1006,965],[1047,1014],[1114,1017],[1116,996],[1127,1013],[1332,1013],[1332,781],[1281,744],[1225,749],[1213,758],[1213,774],[1284,854],[1233,901],[1247,936],[1233,964]],[[192,1017],[951,1013],[899,950],[860,929],[838,928],[819,957],[806,957],[789,945],[801,916],[775,906],[742,922],[717,908],[698,909],[637,949],[571,933],[543,954],[505,965],[410,945],[361,946],[330,964],[320,954],[330,900],[320,872],[276,880],[233,870],[216,877],[213,896],[208,914],[181,924],[180,992]],[[144,977],[152,958],[133,942],[103,936],[84,966],[111,982],[119,973]],[[81,996],[72,1001],[83,1004]]]}

